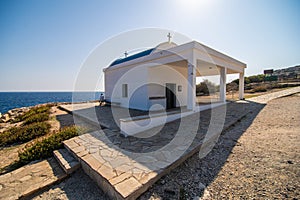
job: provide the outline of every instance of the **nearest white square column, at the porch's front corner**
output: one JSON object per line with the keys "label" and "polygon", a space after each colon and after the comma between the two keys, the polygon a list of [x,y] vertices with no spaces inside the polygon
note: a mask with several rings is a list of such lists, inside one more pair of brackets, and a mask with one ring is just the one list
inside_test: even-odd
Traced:
{"label": "nearest white square column, at the porch's front corner", "polygon": [[195,110],[196,105],[196,61],[188,63],[187,109]]}

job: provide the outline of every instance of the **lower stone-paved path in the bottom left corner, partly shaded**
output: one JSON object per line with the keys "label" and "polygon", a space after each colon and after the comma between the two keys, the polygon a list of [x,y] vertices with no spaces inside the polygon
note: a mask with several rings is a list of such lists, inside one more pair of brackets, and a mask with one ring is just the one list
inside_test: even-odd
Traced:
{"label": "lower stone-paved path in the bottom left corner, partly shaded", "polygon": [[25,197],[66,177],[54,158],[31,163],[0,176],[0,199]]}

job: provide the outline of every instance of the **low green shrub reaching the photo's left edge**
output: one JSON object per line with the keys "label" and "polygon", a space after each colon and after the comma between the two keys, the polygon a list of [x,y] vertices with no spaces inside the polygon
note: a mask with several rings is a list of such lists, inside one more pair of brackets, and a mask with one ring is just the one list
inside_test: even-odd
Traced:
{"label": "low green shrub reaching the photo's left edge", "polygon": [[50,124],[46,122],[37,122],[21,127],[12,127],[3,133],[0,133],[0,146],[28,142],[39,136],[47,134],[49,130]]}

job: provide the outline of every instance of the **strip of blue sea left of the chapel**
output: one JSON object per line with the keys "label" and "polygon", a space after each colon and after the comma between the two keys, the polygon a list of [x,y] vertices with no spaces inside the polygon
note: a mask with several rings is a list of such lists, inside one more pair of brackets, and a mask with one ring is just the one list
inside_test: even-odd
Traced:
{"label": "strip of blue sea left of the chapel", "polygon": [[98,100],[104,92],[0,92],[0,113],[43,103]]}

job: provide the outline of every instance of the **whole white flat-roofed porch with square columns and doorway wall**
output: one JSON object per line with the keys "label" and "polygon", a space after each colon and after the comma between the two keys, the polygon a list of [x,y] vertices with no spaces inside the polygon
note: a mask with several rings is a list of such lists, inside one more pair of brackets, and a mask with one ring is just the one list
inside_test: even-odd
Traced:
{"label": "whole white flat-roofed porch with square columns and doorway wall", "polygon": [[[239,76],[239,99],[243,99],[245,68],[246,64],[195,41],[162,50],[155,64],[148,66],[149,110],[159,102],[165,102],[161,107],[170,109],[168,88],[176,99],[173,107],[198,111],[203,104],[225,103],[227,75],[231,74]],[[197,96],[196,79],[212,76],[217,79],[218,89],[208,89],[209,95]],[[163,88],[160,92],[157,85]]]}

